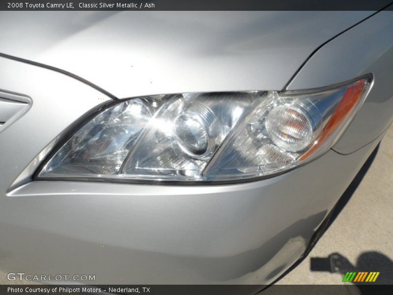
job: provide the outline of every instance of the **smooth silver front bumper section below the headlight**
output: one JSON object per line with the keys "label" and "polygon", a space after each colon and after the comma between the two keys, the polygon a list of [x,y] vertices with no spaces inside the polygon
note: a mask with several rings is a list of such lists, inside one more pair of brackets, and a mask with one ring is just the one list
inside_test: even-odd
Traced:
{"label": "smooth silver front bumper section below the headlight", "polygon": [[94,284],[269,284],[378,142],[235,185],[32,181],[1,198],[0,265],[93,274]]}

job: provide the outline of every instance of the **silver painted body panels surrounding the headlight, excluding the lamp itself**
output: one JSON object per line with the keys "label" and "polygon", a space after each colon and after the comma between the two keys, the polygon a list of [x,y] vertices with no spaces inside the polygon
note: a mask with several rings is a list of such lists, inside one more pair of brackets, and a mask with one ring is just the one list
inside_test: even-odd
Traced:
{"label": "silver painted body panels surrounding the headlight, excluding the lamp itself", "polygon": [[[95,284],[273,282],[392,122],[392,20],[393,11],[1,13],[0,97],[26,103],[0,126],[1,269],[88,273]],[[372,88],[336,145],[280,176],[31,180],[64,130],[112,97],[313,89],[367,73]]]}

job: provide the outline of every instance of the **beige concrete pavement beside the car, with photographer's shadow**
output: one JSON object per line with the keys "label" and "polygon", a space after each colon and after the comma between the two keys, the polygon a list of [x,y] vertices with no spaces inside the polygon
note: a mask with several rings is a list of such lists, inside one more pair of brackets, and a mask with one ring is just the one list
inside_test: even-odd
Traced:
{"label": "beige concrete pavement beside the car, with photographer's shadow", "polygon": [[345,284],[346,271],[379,271],[377,283],[393,284],[393,125],[374,155],[328,230],[277,284]]}

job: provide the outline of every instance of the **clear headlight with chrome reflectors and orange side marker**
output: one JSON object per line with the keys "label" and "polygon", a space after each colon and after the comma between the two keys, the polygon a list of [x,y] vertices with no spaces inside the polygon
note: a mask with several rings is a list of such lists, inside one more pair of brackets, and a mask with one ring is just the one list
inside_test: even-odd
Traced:
{"label": "clear headlight with chrome reflectors and orange side marker", "polygon": [[225,181],[264,177],[329,149],[371,74],[307,91],[184,93],[109,104],[65,139],[38,178]]}

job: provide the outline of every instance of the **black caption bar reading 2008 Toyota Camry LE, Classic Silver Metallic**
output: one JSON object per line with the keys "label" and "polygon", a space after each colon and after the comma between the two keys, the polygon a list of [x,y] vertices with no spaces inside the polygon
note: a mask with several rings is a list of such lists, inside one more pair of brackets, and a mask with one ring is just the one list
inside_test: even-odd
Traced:
{"label": "black caption bar reading 2008 Toyota Camry LE, Classic Silver Metallic", "polygon": [[392,10],[392,0],[6,0],[0,10]]}

